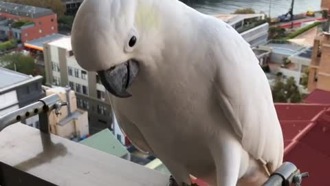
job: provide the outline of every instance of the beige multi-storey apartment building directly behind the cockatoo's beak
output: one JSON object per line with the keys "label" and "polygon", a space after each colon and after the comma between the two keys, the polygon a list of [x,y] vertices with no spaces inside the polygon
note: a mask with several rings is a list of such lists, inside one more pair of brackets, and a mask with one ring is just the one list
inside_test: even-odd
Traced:
{"label": "beige multi-storey apartment building directly behind the cockatoo's beak", "polygon": [[72,52],[71,38],[43,45],[46,82],[49,85],[69,86],[76,92],[77,106],[88,111],[89,132],[95,134],[113,130],[111,105],[96,72],[87,72],[78,65]]}

